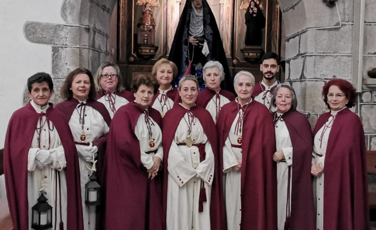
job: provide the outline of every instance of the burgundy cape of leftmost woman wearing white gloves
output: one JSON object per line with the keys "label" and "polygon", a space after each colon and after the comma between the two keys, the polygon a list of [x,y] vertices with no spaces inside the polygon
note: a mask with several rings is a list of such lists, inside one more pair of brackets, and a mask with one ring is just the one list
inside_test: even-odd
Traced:
{"label": "burgundy cape of leftmost woman wearing white gloves", "polygon": [[[4,174],[6,195],[14,230],[29,229],[29,204],[27,198],[27,157],[40,114],[29,103],[15,111],[10,118],[4,145]],[[78,156],[71,130],[64,122],[63,114],[53,105],[46,111],[46,117],[59,133],[64,147],[67,167],[67,230],[83,230],[81,190]],[[37,203],[37,201],[35,201]]]}

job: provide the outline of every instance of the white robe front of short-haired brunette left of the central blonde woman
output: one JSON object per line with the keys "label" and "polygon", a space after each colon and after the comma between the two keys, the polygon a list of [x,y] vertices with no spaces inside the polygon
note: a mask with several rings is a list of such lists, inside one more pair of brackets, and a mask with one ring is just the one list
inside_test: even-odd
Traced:
{"label": "white robe front of short-haired brunette left of the central blonde woman", "polygon": [[[137,120],[136,127],[135,127],[135,134],[137,139],[140,142],[140,150],[141,150],[141,163],[149,170],[153,165],[152,157],[158,156],[161,160],[163,160],[163,147],[162,147],[162,131],[160,127],[155,123],[155,121],[149,116],[150,118],[150,126],[152,137],[155,142],[155,147],[153,149],[149,146],[149,131],[148,125],[145,122],[145,114],[142,113]],[[156,150],[156,153],[146,153],[150,151]]]}

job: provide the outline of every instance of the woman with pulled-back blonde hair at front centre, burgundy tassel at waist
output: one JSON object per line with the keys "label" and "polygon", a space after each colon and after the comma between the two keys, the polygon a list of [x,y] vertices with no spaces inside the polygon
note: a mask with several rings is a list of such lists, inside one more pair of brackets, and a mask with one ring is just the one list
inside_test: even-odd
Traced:
{"label": "woman with pulled-back blonde hair at front centre, burgundy tassel at waist", "polygon": [[[186,84],[187,82],[189,82],[190,84]],[[193,92],[192,95],[196,93],[196,96],[192,96],[190,94],[191,92],[183,92],[181,94],[183,102],[181,104],[175,105],[171,110],[169,110],[165,118],[163,119],[163,209],[164,213],[167,214],[167,229],[195,228],[198,230],[225,230],[226,219],[222,191],[222,174],[219,170],[220,167],[218,162],[217,136],[216,133],[213,132],[215,130],[215,125],[209,112],[204,108],[195,105],[198,90],[198,82],[196,78],[193,76],[184,76],[179,81],[179,88],[182,87],[182,85],[183,87],[191,86],[195,88],[196,91]],[[185,88],[181,88],[179,90],[186,91]],[[188,97],[189,99],[183,97]],[[177,147],[181,147],[177,150],[177,152],[182,153],[175,154],[174,152],[173,159],[169,159],[169,156],[171,156],[171,143],[176,142],[177,139],[185,140],[185,136],[177,137],[176,135],[179,133],[184,133],[186,131],[186,127],[180,127],[180,123],[183,118],[184,120],[186,120],[185,117],[188,117],[189,122],[189,116],[192,117],[192,123],[196,125],[196,127],[192,126],[193,132],[197,128],[201,129],[201,127],[196,124],[197,122],[195,122],[194,119],[198,119],[198,121],[200,122],[203,132],[207,137],[207,142],[209,142],[210,144],[209,149],[211,148],[211,151],[213,153],[207,152],[208,143],[197,143],[200,139],[202,139],[201,136],[203,135],[192,133],[192,136],[189,136],[192,137],[192,146],[189,146],[188,142],[177,143]],[[198,140],[195,140],[196,138]],[[197,148],[200,158],[198,162],[194,160],[197,159],[196,157],[198,157],[196,154]],[[195,161],[198,164],[196,168],[194,168],[194,163],[190,160],[189,162],[187,162],[182,158],[180,159],[180,157],[185,158],[190,154],[193,154],[191,156],[192,161]],[[214,165],[212,165],[212,163],[208,163],[213,160],[211,159],[213,156],[210,156],[210,154],[214,154]],[[171,160],[173,162],[176,162],[176,165],[169,166],[168,161]],[[203,163],[201,166],[205,165],[204,169],[199,169],[200,163]],[[187,168],[184,169],[185,167]],[[176,170],[176,168],[179,169]],[[214,168],[213,172],[209,168]],[[196,176],[194,176],[193,174],[189,176],[188,171],[192,172],[193,174],[197,174]],[[175,175],[176,173],[180,173],[180,176],[177,176],[178,179],[174,180],[172,178],[172,175]],[[199,184],[200,181],[203,183],[201,183],[201,188],[198,188],[200,190],[198,192],[199,198],[196,199],[195,195],[193,195],[193,200],[191,200],[190,198],[192,198],[192,194],[190,194],[190,192],[193,191],[193,193],[196,194],[198,190],[195,185]],[[178,183],[185,184],[179,187]],[[207,183],[212,184],[208,185]],[[173,192],[173,194],[171,194],[172,190],[175,191]],[[179,200],[179,198],[185,200]],[[198,204],[196,203],[197,201]],[[184,204],[187,202],[187,206],[184,206]],[[208,207],[209,205],[205,205],[208,204],[208,202],[210,202],[210,207]],[[189,207],[193,207],[193,210],[190,210]],[[195,210],[196,208],[197,210]],[[210,215],[210,218],[203,220],[203,217],[208,217],[208,214]]]}

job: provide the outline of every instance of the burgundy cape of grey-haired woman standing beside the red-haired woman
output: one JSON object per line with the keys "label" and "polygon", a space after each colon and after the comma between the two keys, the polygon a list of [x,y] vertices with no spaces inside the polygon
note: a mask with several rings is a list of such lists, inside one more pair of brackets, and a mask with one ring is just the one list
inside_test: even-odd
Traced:
{"label": "burgundy cape of grey-haired woman standing beside the red-haired woman", "polygon": [[[315,230],[316,219],[311,179],[312,131],[298,111],[282,116],[293,145],[290,230]],[[286,181],[287,182],[287,181]]]}

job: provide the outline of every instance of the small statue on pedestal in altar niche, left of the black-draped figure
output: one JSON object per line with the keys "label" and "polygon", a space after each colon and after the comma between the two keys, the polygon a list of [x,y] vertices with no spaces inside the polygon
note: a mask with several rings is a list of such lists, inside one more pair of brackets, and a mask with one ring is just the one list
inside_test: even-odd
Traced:
{"label": "small statue on pedestal in altar niche, left of the black-draped figure", "polygon": [[150,59],[154,57],[158,49],[155,42],[155,21],[151,7],[159,7],[158,0],[137,0],[136,5],[144,6],[139,23],[137,24],[137,54],[138,56]]}

